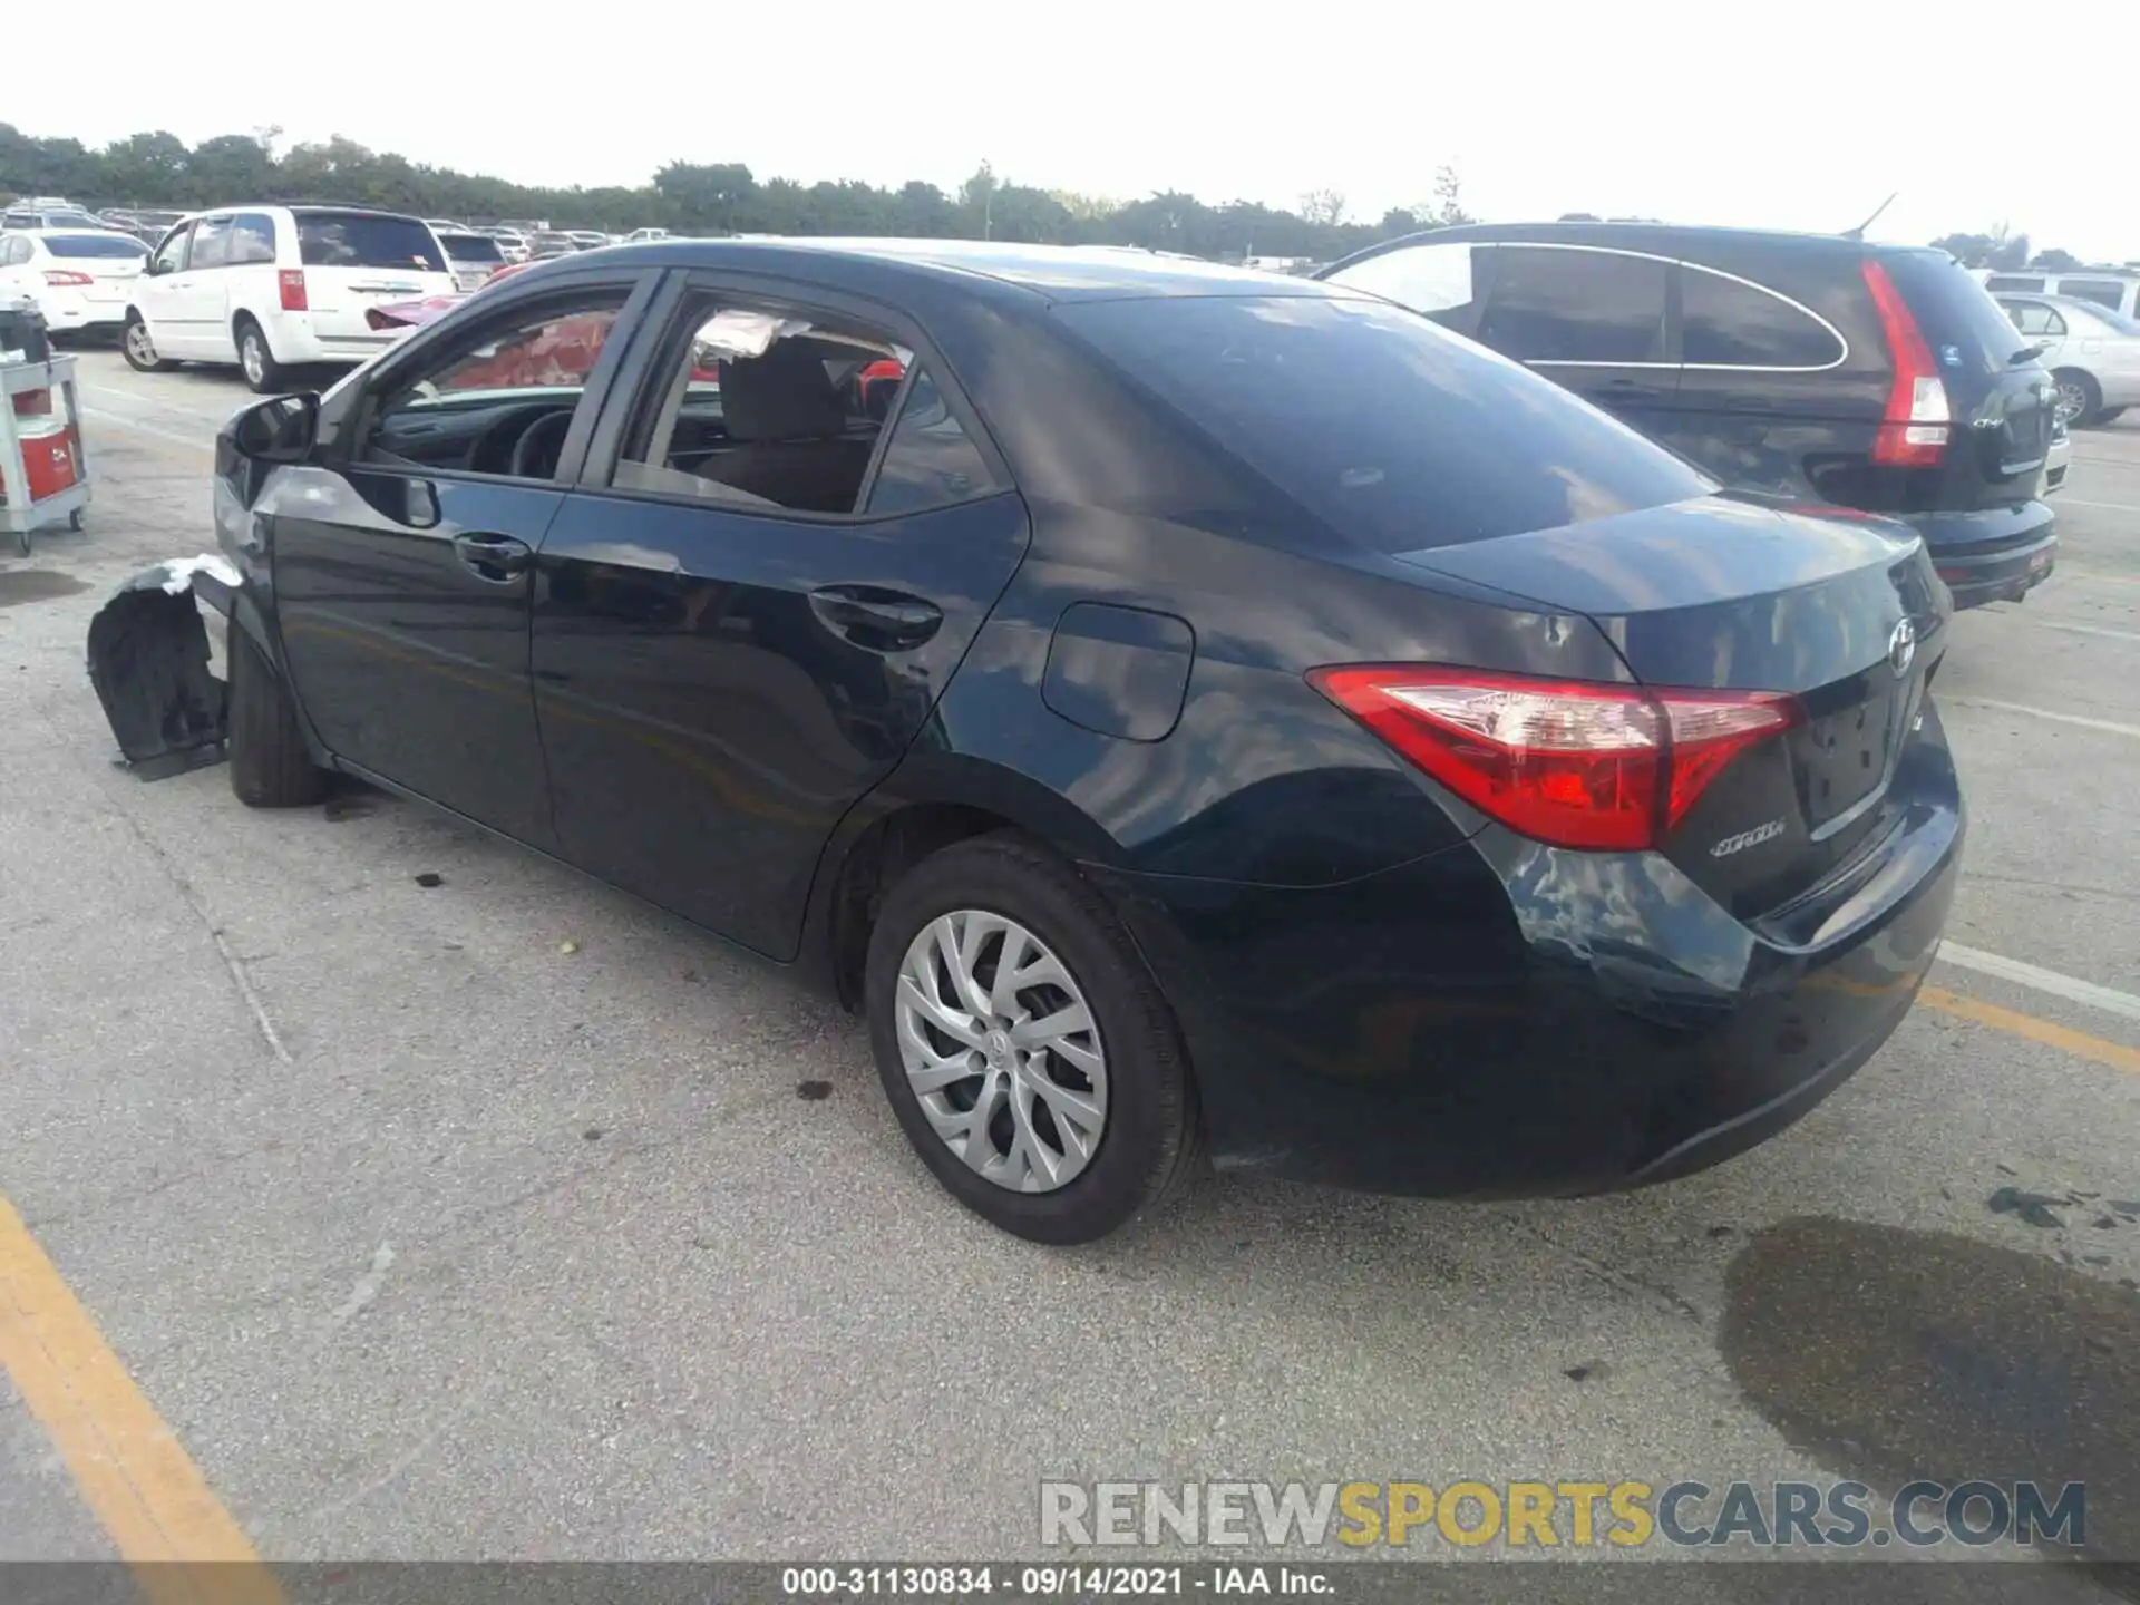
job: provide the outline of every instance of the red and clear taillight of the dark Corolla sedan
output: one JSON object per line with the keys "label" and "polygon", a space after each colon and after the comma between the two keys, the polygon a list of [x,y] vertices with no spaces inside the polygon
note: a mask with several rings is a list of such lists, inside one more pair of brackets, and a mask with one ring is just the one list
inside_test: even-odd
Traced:
{"label": "red and clear taillight of the dark Corolla sedan", "polygon": [[1408,663],[1325,668],[1323,696],[1534,841],[1654,847],[1748,747],[1798,723],[1770,691],[1661,691]]}

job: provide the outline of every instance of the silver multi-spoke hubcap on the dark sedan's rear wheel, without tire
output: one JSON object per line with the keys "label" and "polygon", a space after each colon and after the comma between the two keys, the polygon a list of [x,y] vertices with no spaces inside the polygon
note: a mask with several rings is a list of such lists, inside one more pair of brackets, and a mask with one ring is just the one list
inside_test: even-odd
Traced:
{"label": "silver multi-spoke hubcap on the dark sedan's rear wheel, without tire", "polygon": [[1106,1130],[1106,1051],[1068,965],[987,910],[920,929],[899,963],[899,1057],[946,1147],[1010,1192],[1074,1181]]}

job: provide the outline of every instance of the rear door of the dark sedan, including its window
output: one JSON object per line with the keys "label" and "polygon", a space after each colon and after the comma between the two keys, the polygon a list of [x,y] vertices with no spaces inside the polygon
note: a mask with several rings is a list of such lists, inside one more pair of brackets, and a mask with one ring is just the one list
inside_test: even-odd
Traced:
{"label": "rear door of the dark sedan, including its window", "polygon": [[[832,826],[927,725],[1025,552],[1025,503],[880,306],[691,278],[636,360],[539,556],[559,841],[790,959]],[[886,360],[903,383],[873,419],[858,381]]]}

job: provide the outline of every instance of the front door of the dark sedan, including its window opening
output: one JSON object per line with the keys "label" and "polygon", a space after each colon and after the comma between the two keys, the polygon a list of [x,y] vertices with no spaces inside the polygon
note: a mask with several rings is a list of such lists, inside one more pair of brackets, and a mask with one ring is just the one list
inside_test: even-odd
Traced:
{"label": "front door of the dark sedan, including its window opening", "polygon": [[325,747],[544,850],[533,554],[648,289],[629,272],[552,280],[422,336],[268,507],[282,648]]}

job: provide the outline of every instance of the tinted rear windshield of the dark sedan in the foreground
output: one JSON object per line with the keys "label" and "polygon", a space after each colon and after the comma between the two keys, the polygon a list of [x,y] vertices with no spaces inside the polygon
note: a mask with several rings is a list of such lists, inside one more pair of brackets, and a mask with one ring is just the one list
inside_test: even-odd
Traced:
{"label": "tinted rear windshield of the dark sedan in the foreground", "polygon": [[1549,379],[1389,302],[1162,297],[1072,302],[1057,317],[1338,533],[1382,552],[1560,529],[1714,488]]}

